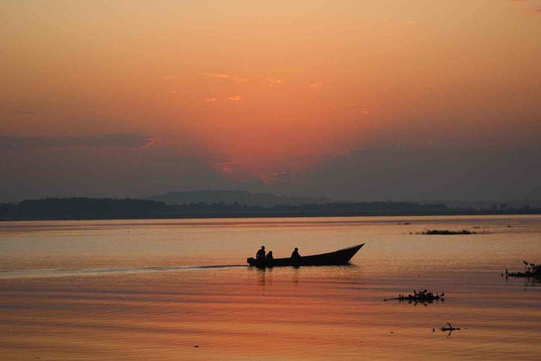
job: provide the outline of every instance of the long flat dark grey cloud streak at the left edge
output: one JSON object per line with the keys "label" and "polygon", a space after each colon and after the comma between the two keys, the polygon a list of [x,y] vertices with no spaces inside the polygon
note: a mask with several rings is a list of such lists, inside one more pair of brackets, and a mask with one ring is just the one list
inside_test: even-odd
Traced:
{"label": "long flat dark grey cloud streak at the left edge", "polygon": [[156,144],[149,135],[100,134],[82,137],[19,137],[0,135],[0,149],[20,150],[39,148],[105,147],[142,148]]}

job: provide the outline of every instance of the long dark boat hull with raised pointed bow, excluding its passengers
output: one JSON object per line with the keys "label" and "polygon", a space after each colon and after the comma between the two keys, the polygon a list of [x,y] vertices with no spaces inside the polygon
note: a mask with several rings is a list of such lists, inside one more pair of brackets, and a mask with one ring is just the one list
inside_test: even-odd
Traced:
{"label": "long dark boat hull with raised pointed bow, excluding its passengers", "polygon": [[285,266],[339,266],[342,264],[348,264],[349,259],[356,254],[358,250],[363,247],[362,245],[354,245],[353,247],[347,247],[343,250],[337,250],[330,253],[322,253],[321,255],[312,255],[300,258],[275,258],[275,259],[255,259],[250,257],[247,262],[250,266],[254,267],[285,267]]}

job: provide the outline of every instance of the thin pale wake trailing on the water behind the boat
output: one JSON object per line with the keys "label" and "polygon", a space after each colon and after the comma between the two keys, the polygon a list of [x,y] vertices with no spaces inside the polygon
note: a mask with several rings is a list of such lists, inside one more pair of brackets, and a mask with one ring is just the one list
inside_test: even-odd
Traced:
{"label": "thin pale wake trailing on the water behind the boat", "polygon": [[97,274],[135,274],[163,271],[183,271],[188,269],[229,269],[247,267],[242,264],[221,264],[214,266],[186,267],[106,267],[81,269],[13,269],[0,270],[0,279],[23,279],[42,277],[91,276]]}

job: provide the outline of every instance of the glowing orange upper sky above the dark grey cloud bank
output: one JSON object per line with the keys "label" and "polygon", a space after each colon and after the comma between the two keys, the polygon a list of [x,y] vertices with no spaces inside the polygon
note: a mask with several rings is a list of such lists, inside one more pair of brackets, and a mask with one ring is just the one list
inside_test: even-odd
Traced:
{"label": "glowing orange upper sky above the dark grey cloud bank", "polygon": [[7,0],[0,14],[3,136],[144,135],[135,161],[203,157],[242,184],[360,149],[541,135],[538,0]]}

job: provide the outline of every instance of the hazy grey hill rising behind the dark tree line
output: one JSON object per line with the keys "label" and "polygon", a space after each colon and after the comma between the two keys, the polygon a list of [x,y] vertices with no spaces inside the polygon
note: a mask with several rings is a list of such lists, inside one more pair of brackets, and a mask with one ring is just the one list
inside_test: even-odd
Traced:
{"label": "hazy grey hill rising behind the dark tree line", "polygon": [[192,192],[168,192],[164,195],[155,195],[146,200],[158,200],[166,204],[189,203],[219,203],[246,204],[248,206],[273,207],[282,204],[324,204],[332,202],[326,197],[287,197],[272,195],[270,193],[252,194],[244,190],[194,190]]}

